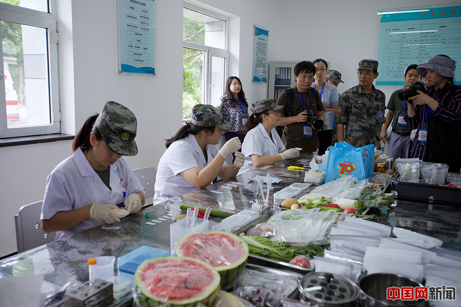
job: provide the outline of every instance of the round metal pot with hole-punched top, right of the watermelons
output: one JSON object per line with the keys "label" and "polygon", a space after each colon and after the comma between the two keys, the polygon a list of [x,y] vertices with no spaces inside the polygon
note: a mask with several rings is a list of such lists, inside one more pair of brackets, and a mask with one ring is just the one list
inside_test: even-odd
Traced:
{"label": "round metal pot with hole-punched top, right of the watermelons", "polygon": [[301,301],[319,307],[353,307],[357,305],[359,289],[349,279],[331,273],[312,272],[298,283]]}

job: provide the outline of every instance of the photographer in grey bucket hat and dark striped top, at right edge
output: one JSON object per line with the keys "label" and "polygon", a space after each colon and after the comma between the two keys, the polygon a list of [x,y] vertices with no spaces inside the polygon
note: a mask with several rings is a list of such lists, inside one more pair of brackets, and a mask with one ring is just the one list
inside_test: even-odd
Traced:
{"label": "photographer in grey bucket hat and dark striped top, at right edge", "polygon": [[431,86],[427,94],[416,90],[408,98],[408,121],[418,129],[411,147],[411,157],[446,163],[449,171],[461,168],[461,86],[453,84],[455,62],[446,55],[436,55],[417,72]]}

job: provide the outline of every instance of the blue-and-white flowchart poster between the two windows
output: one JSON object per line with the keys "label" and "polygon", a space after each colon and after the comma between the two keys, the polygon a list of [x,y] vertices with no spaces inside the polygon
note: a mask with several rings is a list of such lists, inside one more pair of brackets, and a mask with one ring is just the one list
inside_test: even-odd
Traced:
{"label": "blue-and-white flowchart poster between the two windows", "polygon": [[155,75],[154,0],[118,0],[120,73]]}

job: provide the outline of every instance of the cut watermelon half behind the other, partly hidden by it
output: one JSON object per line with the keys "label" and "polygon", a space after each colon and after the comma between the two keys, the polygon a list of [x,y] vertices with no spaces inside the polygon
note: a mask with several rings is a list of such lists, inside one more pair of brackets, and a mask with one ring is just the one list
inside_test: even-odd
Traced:
{"label": "cut watermelon half behind the other, partly hidden by it", "polygon": [[224,290],[243,272],[248,259],[248,245],[235,234],[224,231],[185,234],[178,240],[175,252],[212,265],[221,275]]}

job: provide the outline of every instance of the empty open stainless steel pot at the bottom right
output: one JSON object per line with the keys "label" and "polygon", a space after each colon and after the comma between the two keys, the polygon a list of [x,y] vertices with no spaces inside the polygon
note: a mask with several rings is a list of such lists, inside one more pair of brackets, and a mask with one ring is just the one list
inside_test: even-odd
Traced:
{"label": "empty open stainless steel pot at the bottom right", "polygon": [[374,273],[359,280],[361,307],[420,307],[426,306],[426,300],[391,300],[387,299],[387,288],[423,287],[413,279],[402,275]]}

